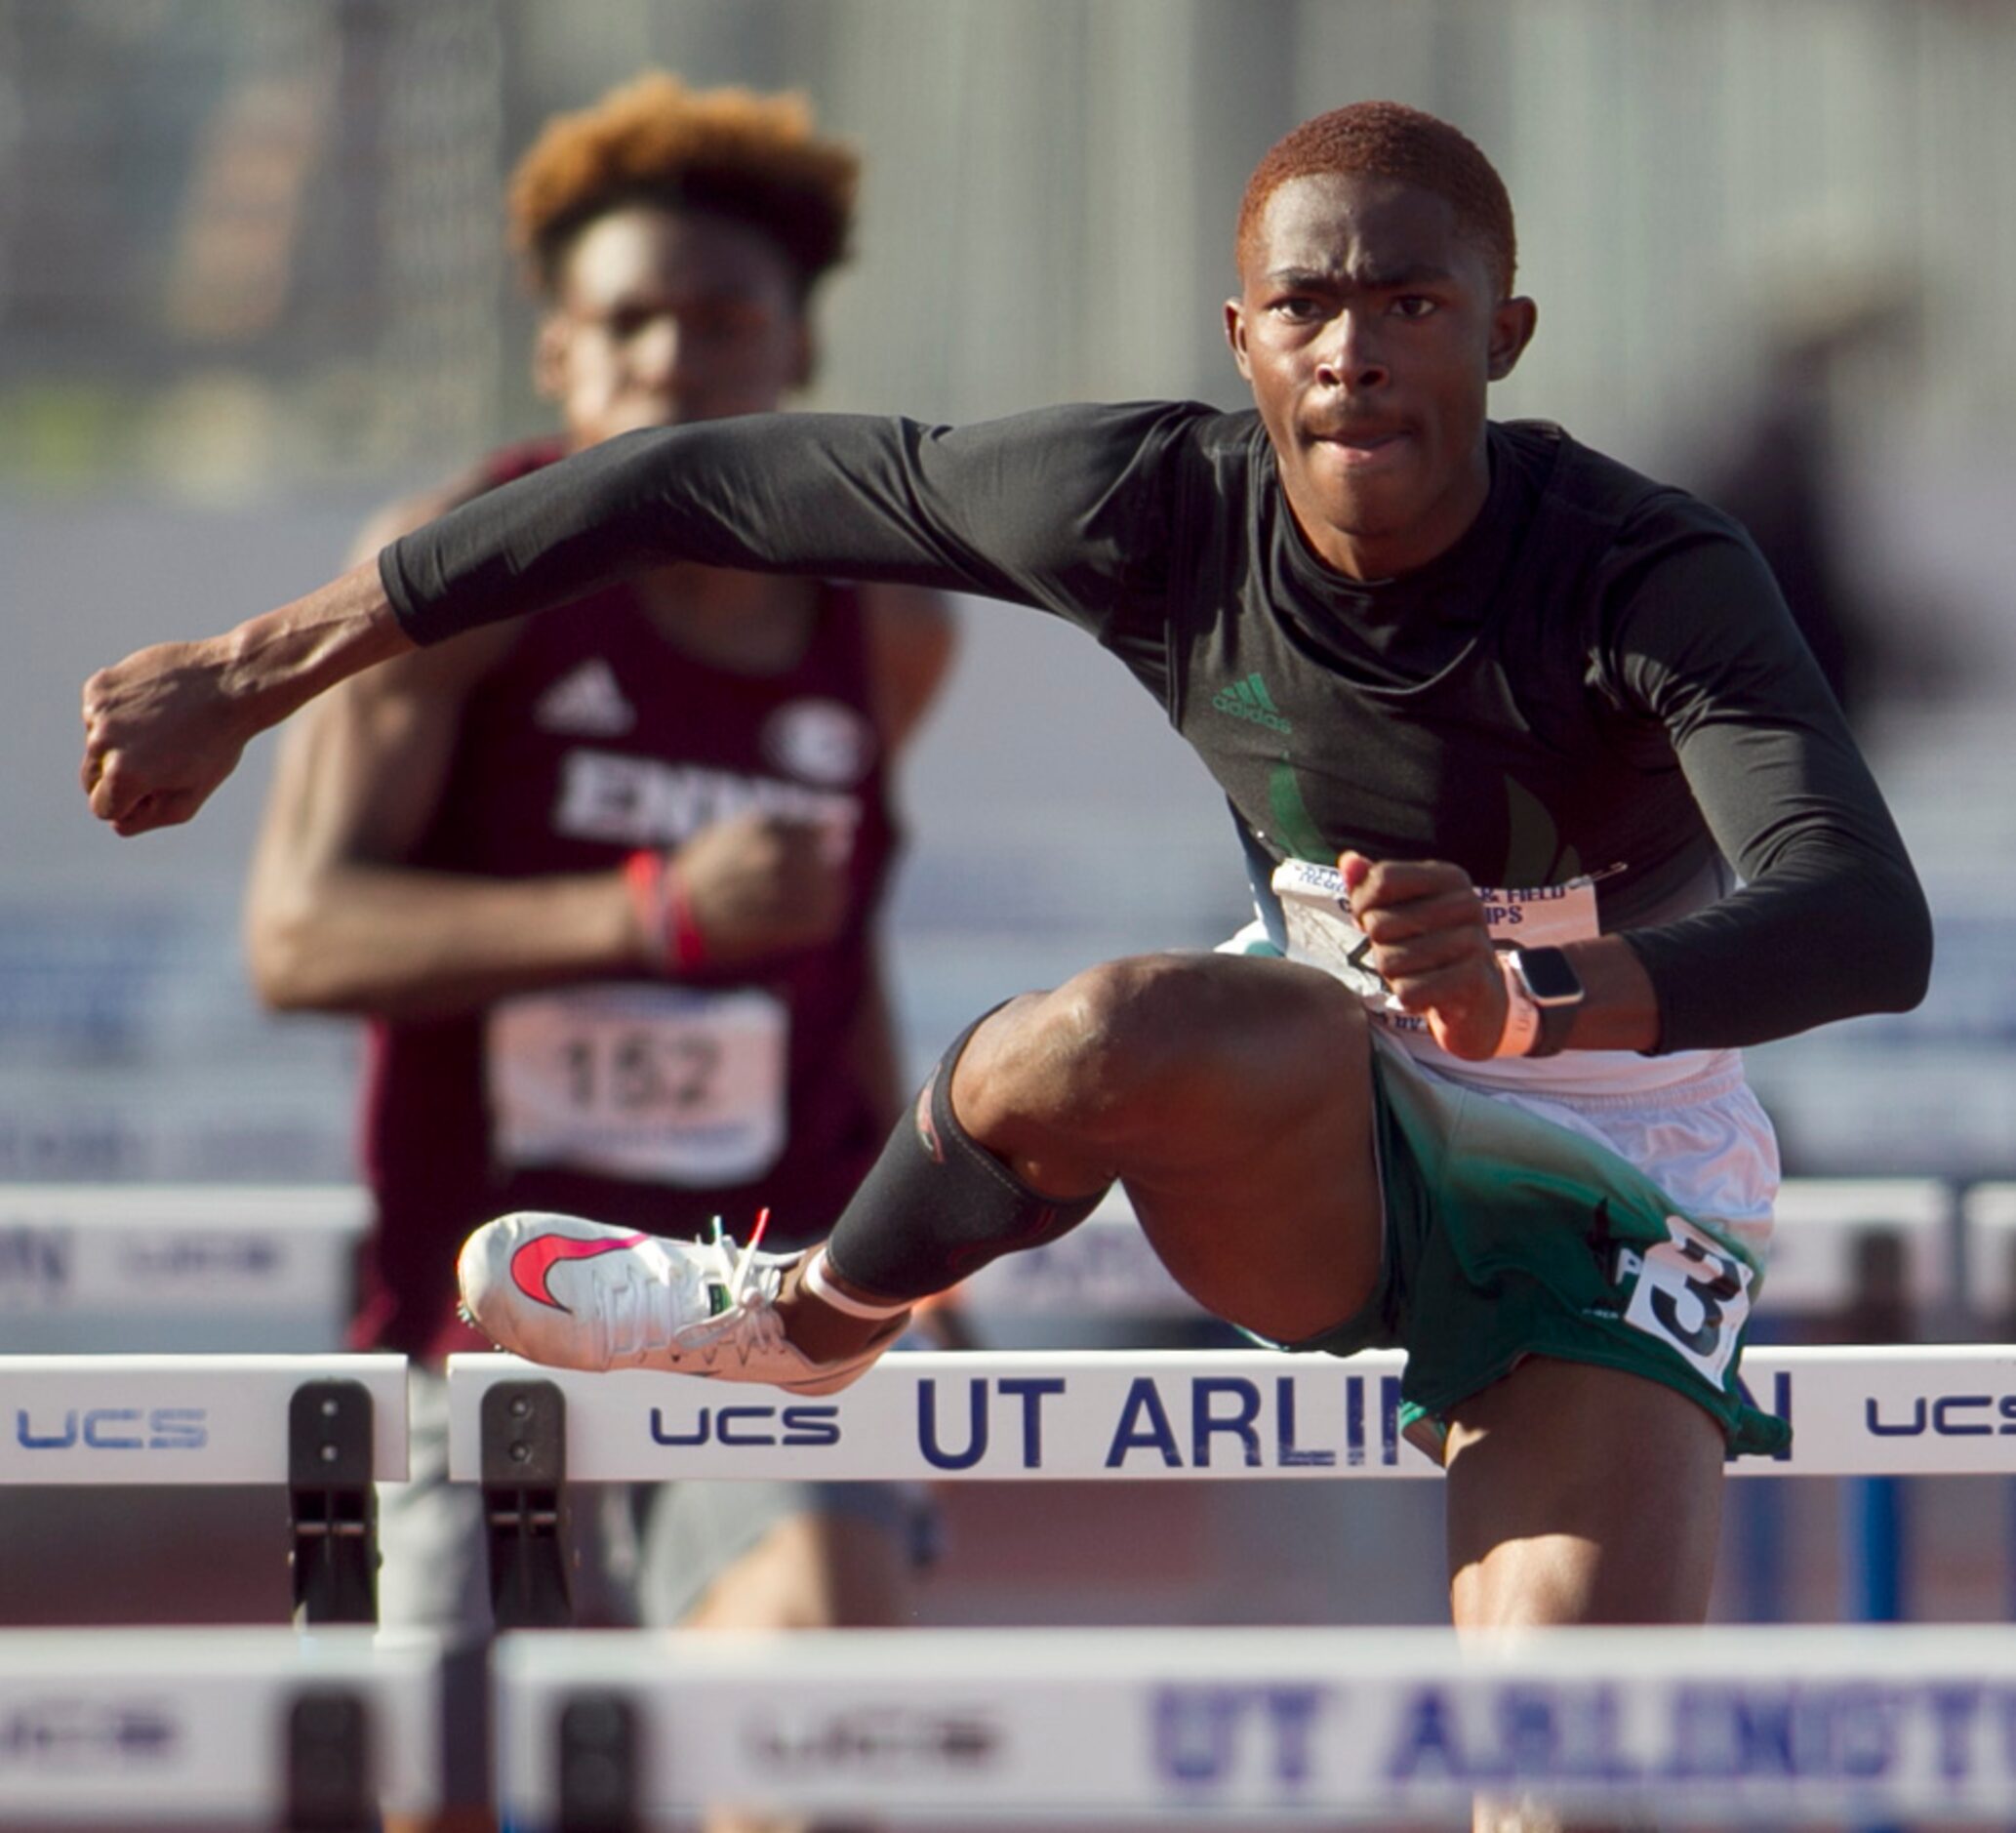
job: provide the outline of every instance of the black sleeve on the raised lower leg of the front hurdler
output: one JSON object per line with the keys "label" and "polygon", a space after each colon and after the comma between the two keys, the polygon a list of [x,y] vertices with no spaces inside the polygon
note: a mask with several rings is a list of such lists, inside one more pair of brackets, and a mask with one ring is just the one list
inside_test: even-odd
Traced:
{"label": "black sleeve on the raised lower leg of the front hurdler", "polygon": [[889,1135],[827,1238],[827,1262],[849,1285],[885,1299],[923,1299],[988,1260],[1077,1228],[1101,1196],[1030,1190],[952,1113],[952,1071],[976,1018],[937,1059],[909,1115]]}

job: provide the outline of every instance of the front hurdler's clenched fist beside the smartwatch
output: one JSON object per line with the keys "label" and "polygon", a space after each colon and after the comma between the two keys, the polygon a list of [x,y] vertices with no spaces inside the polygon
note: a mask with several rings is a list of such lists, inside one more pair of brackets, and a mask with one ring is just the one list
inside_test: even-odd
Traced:
{"label": "front hurdler's clenched fist beside the smartwatch", "polygon": [[1468,873],[1439,859],[1337,861],[1373,966],[1452,1057],[1482,1061],[1504,1036],[1510,994]]}

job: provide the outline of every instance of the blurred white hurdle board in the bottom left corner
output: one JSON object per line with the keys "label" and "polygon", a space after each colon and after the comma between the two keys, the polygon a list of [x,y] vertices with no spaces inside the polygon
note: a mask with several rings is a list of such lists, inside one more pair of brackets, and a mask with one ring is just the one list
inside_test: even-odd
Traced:
{"label": "blurred white hurdle board in the bottom left corner", "polygon": [[365,1708],[369,1791],[439,1803],[437,1647],[325,1629],[0,1631],[0,1827],[278,1827],[288,1714]]}

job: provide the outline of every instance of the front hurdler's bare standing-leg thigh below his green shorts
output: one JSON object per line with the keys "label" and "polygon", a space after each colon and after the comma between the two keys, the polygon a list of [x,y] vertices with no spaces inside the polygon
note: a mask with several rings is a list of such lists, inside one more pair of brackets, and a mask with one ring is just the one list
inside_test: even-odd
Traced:
{"label": "front hurdler's bare standing-leg thigh below his green shorts", "polygon": [[1450,1414],[1458,1627],[1697,1623],[1724,1432],[1643,1375],[1530,1357]]}

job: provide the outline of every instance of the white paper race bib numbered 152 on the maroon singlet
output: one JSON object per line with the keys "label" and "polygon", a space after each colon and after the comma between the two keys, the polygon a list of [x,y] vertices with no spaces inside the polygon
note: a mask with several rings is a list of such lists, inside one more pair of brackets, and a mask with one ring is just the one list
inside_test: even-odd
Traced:
{"label": "white paper race bib numbered 152 on the maroon singlet", "polygon": [[490,1127],[506,1166],[744,1184],[784,1149],[790,1014],[760,988],[581,986],[494,1006]]}

